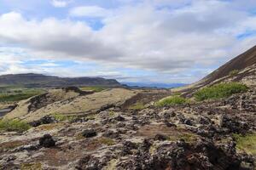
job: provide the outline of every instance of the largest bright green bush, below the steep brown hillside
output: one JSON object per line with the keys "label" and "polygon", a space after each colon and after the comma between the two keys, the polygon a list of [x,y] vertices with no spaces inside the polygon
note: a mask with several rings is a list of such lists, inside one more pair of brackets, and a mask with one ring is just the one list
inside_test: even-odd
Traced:
{"label": "largest bright green bush, below the steep brown hillside", "polygon": [[195,99],[202,101],[205,99],[222,99],[247,91],[247,86],[238,82],[226,82],[202,88],[195,93]]}

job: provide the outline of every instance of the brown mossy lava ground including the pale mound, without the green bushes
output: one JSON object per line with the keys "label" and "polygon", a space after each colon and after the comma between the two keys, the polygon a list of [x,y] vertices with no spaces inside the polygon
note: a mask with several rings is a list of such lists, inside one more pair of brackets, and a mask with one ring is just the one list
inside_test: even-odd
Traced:
{"label": "brown mossy lava ground including the pale mound, without the green bushes", "polygon": [[[253,58],[242,58],[255,59],[248,54]],[[155,103],[173,90],[59,88],[20,101],[3,120],[21,119],[31,128],[0,132],[0,169],[253,170],[255,65],[206,86],[218,81],[243,82],[248,89],[164,106]],[[196,88],[190,90],[179,92],[189,97]]]}

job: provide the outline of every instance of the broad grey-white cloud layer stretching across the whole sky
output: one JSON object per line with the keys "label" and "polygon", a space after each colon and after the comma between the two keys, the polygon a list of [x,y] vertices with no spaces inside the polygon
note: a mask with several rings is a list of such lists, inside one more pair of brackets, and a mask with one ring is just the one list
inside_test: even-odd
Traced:
{"label": "broad grey-white cloud layer stretching across the whole sky", "polygon": [[[209,68],[255,45],[256,37],[247,32],[256,31],[256,16],[251,12],[256,3],[242,2],[152,0],[122,1],[115,8],[82,5],[69,8],[65,20],[27,19],[9,12],[0,16],[0,43],[18,46],[37,59],[93,61],[179,78],[195,68],[207,74]],[[67,6],[67,1],[52,3]],[[91,26],[91,20],[101,23],[100,29]]]}

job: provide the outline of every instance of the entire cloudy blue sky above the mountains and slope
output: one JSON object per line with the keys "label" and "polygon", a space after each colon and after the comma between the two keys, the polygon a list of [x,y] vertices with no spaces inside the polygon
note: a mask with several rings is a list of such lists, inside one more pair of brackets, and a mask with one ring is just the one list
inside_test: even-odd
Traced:
{"label": "entire cloudy blue sky above the mountains and slope", "polygon": [[0,0],[0,75],[191,83],[254,45],[255,0]]}

